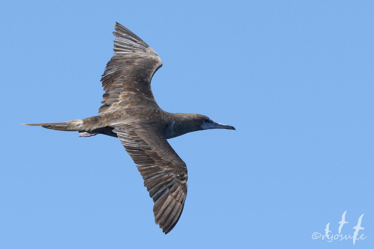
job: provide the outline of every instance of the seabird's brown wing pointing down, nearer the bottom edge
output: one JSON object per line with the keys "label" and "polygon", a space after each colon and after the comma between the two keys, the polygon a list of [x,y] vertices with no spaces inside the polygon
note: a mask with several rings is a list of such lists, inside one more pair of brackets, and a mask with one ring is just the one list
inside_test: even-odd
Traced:
{"label": "seabird's brown wing pointing down, nearer the bottom edge", "polygon": [[153,198],[156,224],[167,234],[181,216],[187,194],[187,168],[161,131],[150,125],[117,127],[114,133],[136,164]]}

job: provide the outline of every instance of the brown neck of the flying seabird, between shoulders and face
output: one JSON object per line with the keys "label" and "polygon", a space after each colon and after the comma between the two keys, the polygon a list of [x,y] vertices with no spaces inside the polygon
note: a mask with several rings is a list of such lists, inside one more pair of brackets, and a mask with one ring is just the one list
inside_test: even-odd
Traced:
{"label": "brown neck of the flying seabird, between shoulders and face", "polygon": [[193,113],[170,113],[171,119],[164,129],[165,137],[173,138],[183,134],[202,130],[197,124],[197,114]]}

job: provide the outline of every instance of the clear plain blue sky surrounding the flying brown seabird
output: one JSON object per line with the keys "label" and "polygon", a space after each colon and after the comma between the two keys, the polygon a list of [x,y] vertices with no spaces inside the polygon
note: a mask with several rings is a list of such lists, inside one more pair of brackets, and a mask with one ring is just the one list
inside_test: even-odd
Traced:
{"label": "clear plain blue sky surrounding the flying brown seabird", "polygon": [[[3,1],[0,21],[0,248],[374,245],[373,1]],[[236,128],[169,140],[188,194],[167,235],[119,139],[20,125],[97,115],[116,21],[162,59],[161,108]],[[312,239],[344,211],[365,240]]]}

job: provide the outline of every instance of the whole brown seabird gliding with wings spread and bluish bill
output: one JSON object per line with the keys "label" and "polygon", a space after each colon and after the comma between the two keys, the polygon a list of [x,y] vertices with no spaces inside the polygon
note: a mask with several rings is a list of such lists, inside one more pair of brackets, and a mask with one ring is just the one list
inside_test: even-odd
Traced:
{"label": "whole brown seabird gliding with wings spread and bluish bill", "polygon": [[162,66],[154,50],[119,23],[113,32],[114,56],[102,75],[99,115],[61,123],[25,124],[59,131],[78,131],[80,137],[105,134],[118,137],[137,165],[154,201],[156,224],[167,234],[177,224],[187,194],[186,164],[166,139],[191,131],[235,130],[204,115],[169,113],[154,100],[153,74]]}

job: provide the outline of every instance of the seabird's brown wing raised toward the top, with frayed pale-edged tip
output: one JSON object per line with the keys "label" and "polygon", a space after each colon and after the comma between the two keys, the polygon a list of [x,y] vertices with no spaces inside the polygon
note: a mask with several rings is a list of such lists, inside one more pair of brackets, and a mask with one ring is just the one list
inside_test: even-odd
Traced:
{"label": "seabird's brown wing raised toward the top, with frayed pale-edged tip", "polygon": [[101,78],[105,93],[99,113],[134,106],[159,108],[152,94],[151,79],[162,66],[160,57],[119,23],[114,29],[114,56]]}

